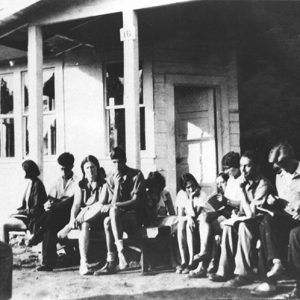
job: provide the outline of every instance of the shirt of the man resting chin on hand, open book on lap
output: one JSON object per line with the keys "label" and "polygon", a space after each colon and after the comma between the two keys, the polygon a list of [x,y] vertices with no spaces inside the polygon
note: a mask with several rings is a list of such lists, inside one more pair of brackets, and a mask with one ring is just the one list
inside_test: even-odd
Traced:
{"label": "shirt of the man resting chin on hand, open book on lap", "polygon": [[266,203],[267,197],[274,192],[274,188],[269,180],[258,175],[255,180],[246,183],[245,192],[250,203],[262,206]]}

